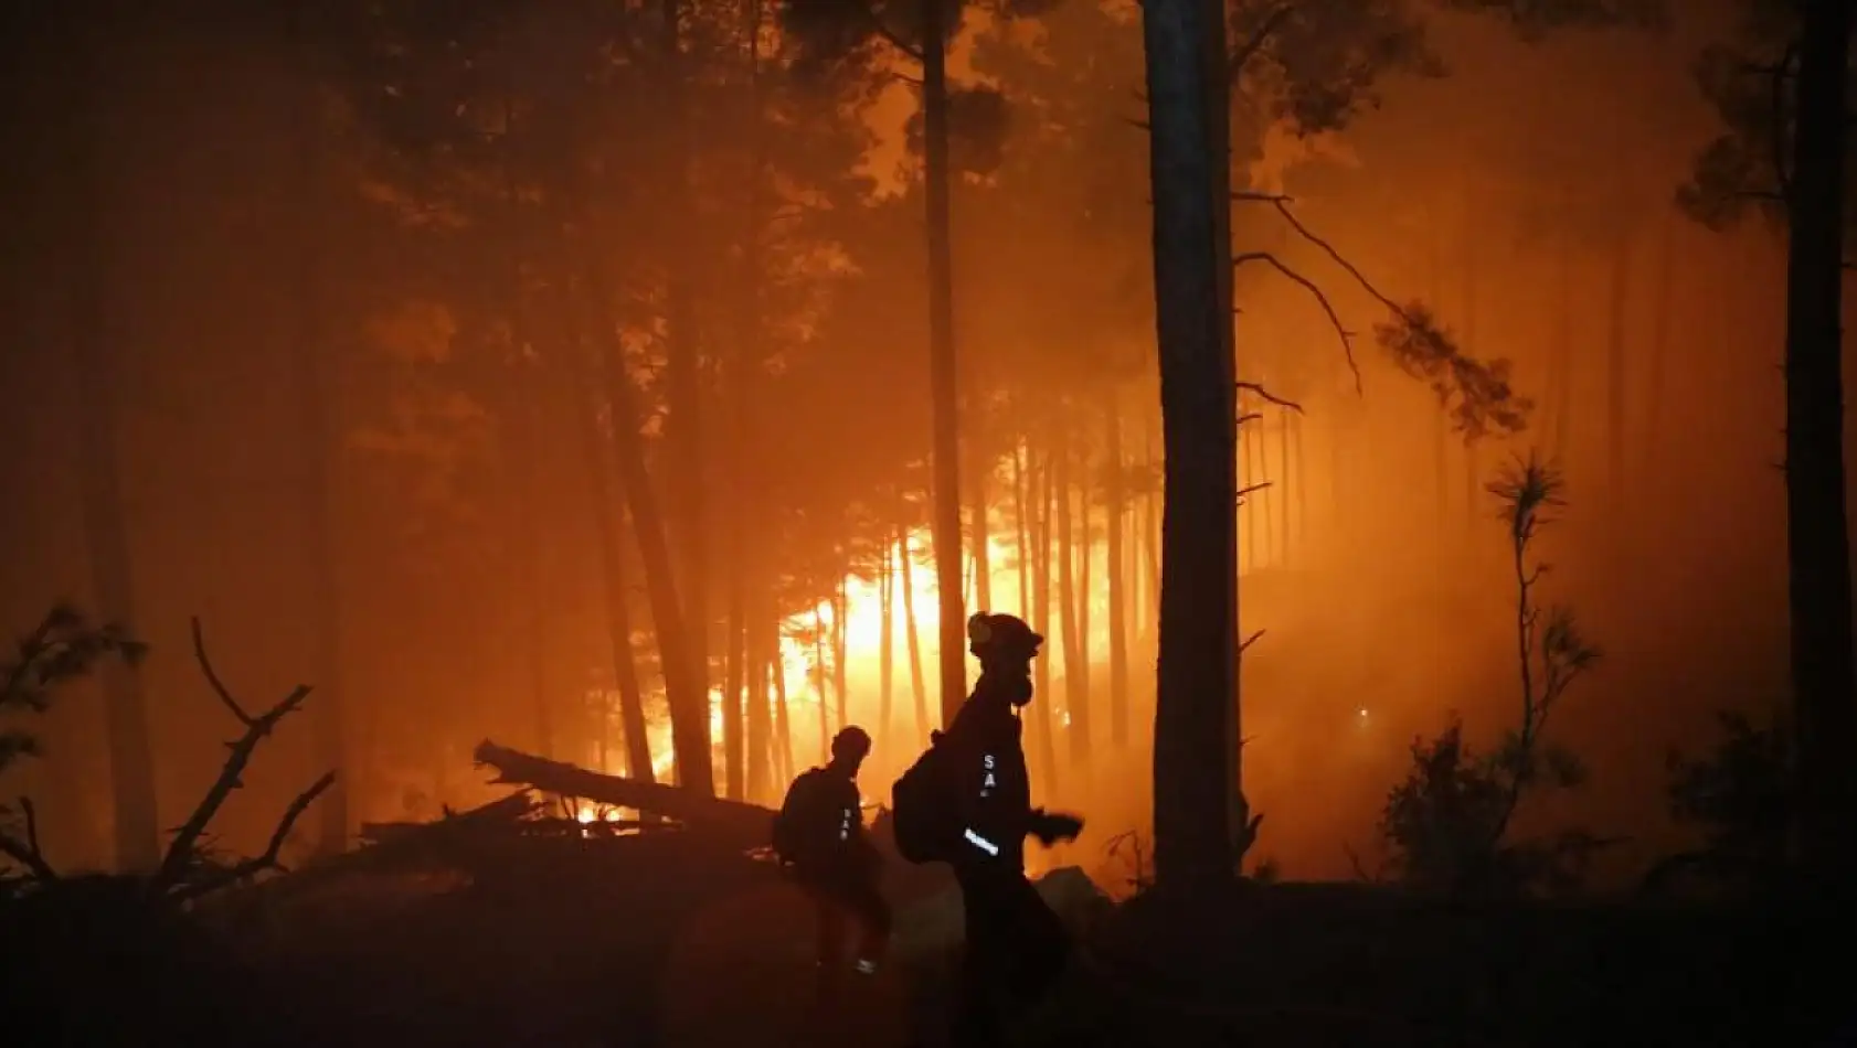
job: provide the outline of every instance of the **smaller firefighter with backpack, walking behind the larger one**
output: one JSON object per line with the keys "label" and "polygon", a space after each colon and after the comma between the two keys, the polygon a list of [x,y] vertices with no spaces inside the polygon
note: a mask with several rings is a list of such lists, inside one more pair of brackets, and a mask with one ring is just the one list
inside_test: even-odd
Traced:
{"label": "smaller firefighter with backpack, walking behind the larger one", "polygon": [[890,940],[890,903],[878,890],[882,857],[864,829],[858,768],[871,736],[847,727],[832,738],[832,760],[793,779],[774,816],[774,853],[819,913],[819,972],[843,965],[847,920],[856,924],[860,974],[877,972]]}

